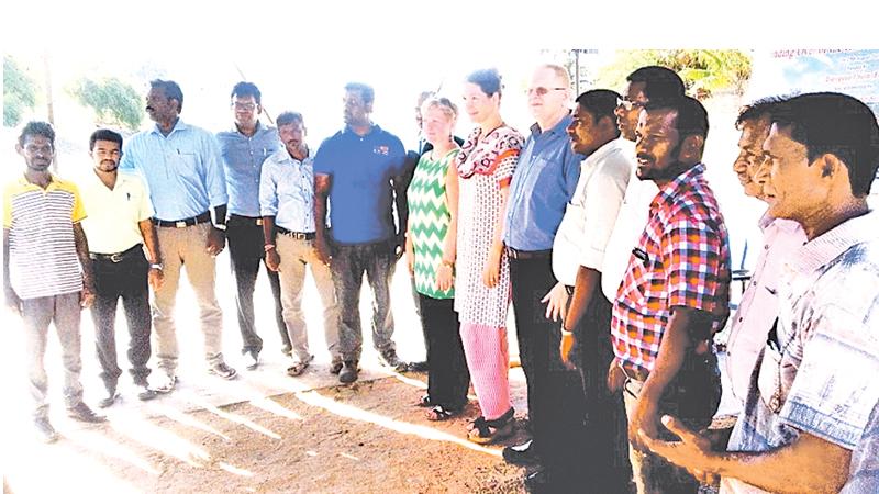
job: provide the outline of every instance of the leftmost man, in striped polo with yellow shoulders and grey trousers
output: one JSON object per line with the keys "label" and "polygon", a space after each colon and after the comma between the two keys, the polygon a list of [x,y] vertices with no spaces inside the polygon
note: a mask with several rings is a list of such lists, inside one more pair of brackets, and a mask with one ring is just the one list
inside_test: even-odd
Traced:
{"label": "leftmost man, in striped polo with yellow shoulders and grey trousers", "polygon": [[76,186],[48,171],[55,158],[52,125],[27,123],[15,149],[26,169],[3,190],[3,290],[7,306],[24,323],[34,425],[40,438],[52,442],[57,434],[48,422],[43,356],[53,322],[62,347],[68,415],[104,420],[82,402],[79,382],[79,311],[94,300],[89,249],[79,224],[86,211]]}

